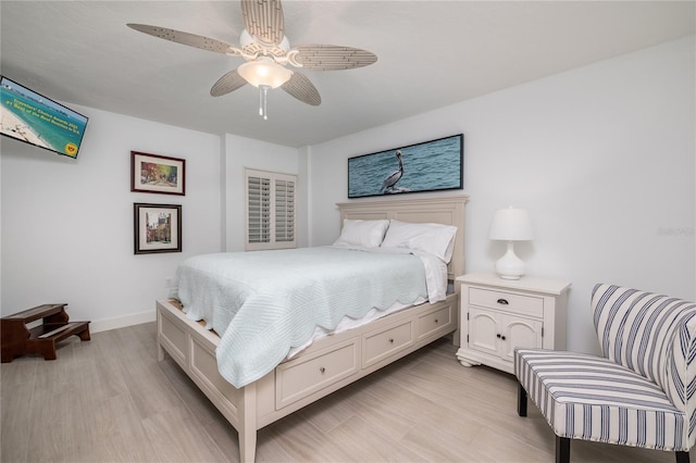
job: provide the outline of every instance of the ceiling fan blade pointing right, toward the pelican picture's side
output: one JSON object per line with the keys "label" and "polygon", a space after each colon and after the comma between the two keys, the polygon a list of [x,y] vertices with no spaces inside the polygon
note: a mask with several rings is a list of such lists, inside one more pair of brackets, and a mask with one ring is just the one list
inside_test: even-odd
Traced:
{"label": "ceiling fan blade pointing right, toward the pelican picture's side", "polygon": [[377,57],[366,50],[337,45],[301,45],[294,60],[306,70],[339,71],[369,66]]}

